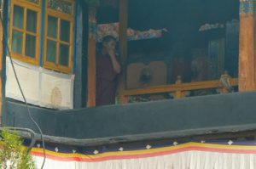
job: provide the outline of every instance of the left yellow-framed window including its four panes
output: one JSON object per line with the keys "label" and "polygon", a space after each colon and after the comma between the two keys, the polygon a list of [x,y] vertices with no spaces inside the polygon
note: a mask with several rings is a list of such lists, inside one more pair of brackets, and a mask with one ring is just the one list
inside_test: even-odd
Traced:
{"label": "left yellow-framed window including its four panes", "polygon": [[15,59],[38,65],[40,42],[39,0],[13,0],[11,3],[10,48]]}

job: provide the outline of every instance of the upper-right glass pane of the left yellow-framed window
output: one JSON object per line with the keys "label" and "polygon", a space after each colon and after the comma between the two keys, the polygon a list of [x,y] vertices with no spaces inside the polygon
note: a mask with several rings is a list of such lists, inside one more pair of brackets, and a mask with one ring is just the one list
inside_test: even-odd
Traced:
{"label": "upper-right glass pane of the left yellow-framed window", "polygon": [[26,11],[26,31],[37,32],[38,13],[27,9]]}

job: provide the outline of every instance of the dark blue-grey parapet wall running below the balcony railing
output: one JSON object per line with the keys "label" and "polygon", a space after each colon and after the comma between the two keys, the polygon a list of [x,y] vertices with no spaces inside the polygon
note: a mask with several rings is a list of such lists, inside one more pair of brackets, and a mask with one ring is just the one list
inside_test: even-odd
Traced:
{"label": "dark blue-grey parapet wall running below the balcony railing", "polygon": [[[44,135],[86,140],[138,141],[256,129],[256,93],[230,93],[80,110],[30,106]],[[25,104],[6,100],[3,124],[38,132]]]}

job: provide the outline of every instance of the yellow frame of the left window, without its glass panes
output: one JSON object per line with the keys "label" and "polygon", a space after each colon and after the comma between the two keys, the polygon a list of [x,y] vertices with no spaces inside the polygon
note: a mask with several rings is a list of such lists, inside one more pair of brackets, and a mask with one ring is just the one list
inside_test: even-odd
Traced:
{"label": "yellow frame of the left window, without its glass panes", "polygon": [[[40,32],[41,32],[41,1],[39,1],[39,4],[31,3],[26,0],[12,0],[11,1],[11,12],[10,12],[10,36],[9,36],[9,47],[10,47],[10,53],[12,54],[12,57],[15,59],[19,59],[20,61],[32,64],[32,65],[39,65],[39,58],[40,58]],[[24,8],[24,27],[23,29],[16,28],[13,26],[13,18],[14,18],[14,6],[19,6],[21,8]],[[27,9],[31,9],[32,11],[35,11],[38,13],[38,23],[37,23],[37,33],[26,31],[26,11]],[[13,30],[20,31],[23,33],[23,40],[22,40],[22,54],[17,54],[12,51],[12,38],[13,38]],[[26,56],[26,34],[36,36],[36,55],[35,58],[31,58],[29,56]]]}

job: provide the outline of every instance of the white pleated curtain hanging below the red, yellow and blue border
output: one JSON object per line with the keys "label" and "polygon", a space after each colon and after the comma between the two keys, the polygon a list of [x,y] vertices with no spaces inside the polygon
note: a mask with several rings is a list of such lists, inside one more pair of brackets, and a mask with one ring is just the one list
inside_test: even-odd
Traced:
{"label": "white pleated curtain hanging below the red, yellow and blue border", "polygon": [[[38,168],[43,158],[35,156]],[[256,155],[188,151],[150,158],[100,162],[55,161],[47,159],[45,168],[54,169],[255,169]]]}

